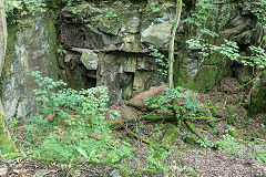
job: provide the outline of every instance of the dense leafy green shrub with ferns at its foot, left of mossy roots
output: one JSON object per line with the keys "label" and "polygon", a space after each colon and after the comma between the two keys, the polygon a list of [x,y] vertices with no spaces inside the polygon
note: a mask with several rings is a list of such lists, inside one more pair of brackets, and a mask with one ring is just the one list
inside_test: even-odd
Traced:
{"label": "dense leafy green shrub with ferns at its foot, left of mossy roots", "polygon": [[34,146],[28,154],[47,160],[111,164],[132,154],[127,143],[112,137],[105,115],[112,118],[117,113],[106,108],[105,87],[75,91],[40,72],[31,76],[39,85],[33,92],[41,114],[25,126]]}

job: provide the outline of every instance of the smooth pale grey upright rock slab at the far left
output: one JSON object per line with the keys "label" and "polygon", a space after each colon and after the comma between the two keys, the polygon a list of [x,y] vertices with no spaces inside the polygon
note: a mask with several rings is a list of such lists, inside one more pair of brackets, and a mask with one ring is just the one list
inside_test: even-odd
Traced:
{"label": "smooth pale grey upright rock slab at the far left", "polygon": [[27,28],[9,27],[8,50],[0,85],[7,116],[21,119],[37,110],[32,90],[35,84],[28,76],[32,71],[58,77],[57,37],[50,13],[41,12],[25,19]]}

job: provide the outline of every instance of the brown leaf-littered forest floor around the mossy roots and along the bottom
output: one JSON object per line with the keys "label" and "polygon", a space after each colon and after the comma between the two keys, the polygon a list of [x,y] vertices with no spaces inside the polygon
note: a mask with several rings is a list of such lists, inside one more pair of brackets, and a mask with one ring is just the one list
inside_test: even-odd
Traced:
{"label": "brown leaf-littered forest floor around the mossy roots and along the bottom", "polygon": [[[225,77],[219,84],[207,94],[201,94],[204,103],[212,102],[221,116],[219,122],[209,126],[204,122],[198,122],[196,129],[211,143],[222,140],[224,135],[232,135],[233,139],[227,139],[227,148],[215,149],[201,145],[201,143],[186,138],[190,132],[181,127],[180,137],[176,138],[172,147],[172,154],[165,162],[170,168],[171,175],[166,173],[156,173],[143,176],[194,176],[194,177],[265,177],[266,176],[266,114],[259,114],[254,117],[247,116],[247,101],[245,92],[238,92],[235,87],[238,85],[235,79]],[[166,131],[168,121],[147,122],[139,121],[140,114],[147,114],[145,108],[133,108],[127,103],[143,105],[145,97],[152,97],[161,94],[163,86],[154,86],[149,91],[140,93],[130,101],[121,101],[111,108],[121,112],[122,117],[127,117],[129,122],[116,125],[117,135],[129,137],[131,145],[139,148],[140,152],[149,146],[140,138],[129,134],[129,129],[147,140],[161,139]],[[211,114],[211,113],[209,113]],[[117,118],[116,121],[120,121]],[[134,121],[132,121],[134,119]],[[236,140],[237,139],[237,140]],[[257,158],[257,148],[252,145],[258,145],[263,149],[263,162]],[[205,147],[204,147],[205,146]],[[236,146],[236,147],[232,147]],[[231,148],[232,147],[232,148]],[[257,147],[257,146],[256,146]],[[132,166],[142,168],[132,163]],[[144,165],[145,166],[145,165]],[[84,168],[86,167],[86,168]],[[21,158],[2,160],[0,164],[0,176],[23,177],[23,176],[74,176],[74,177],[120,177],[121,173],[106,165],[92,165],[84,163],[79,166],[65,164],[44,164],[35,160],[24,160]]]}

